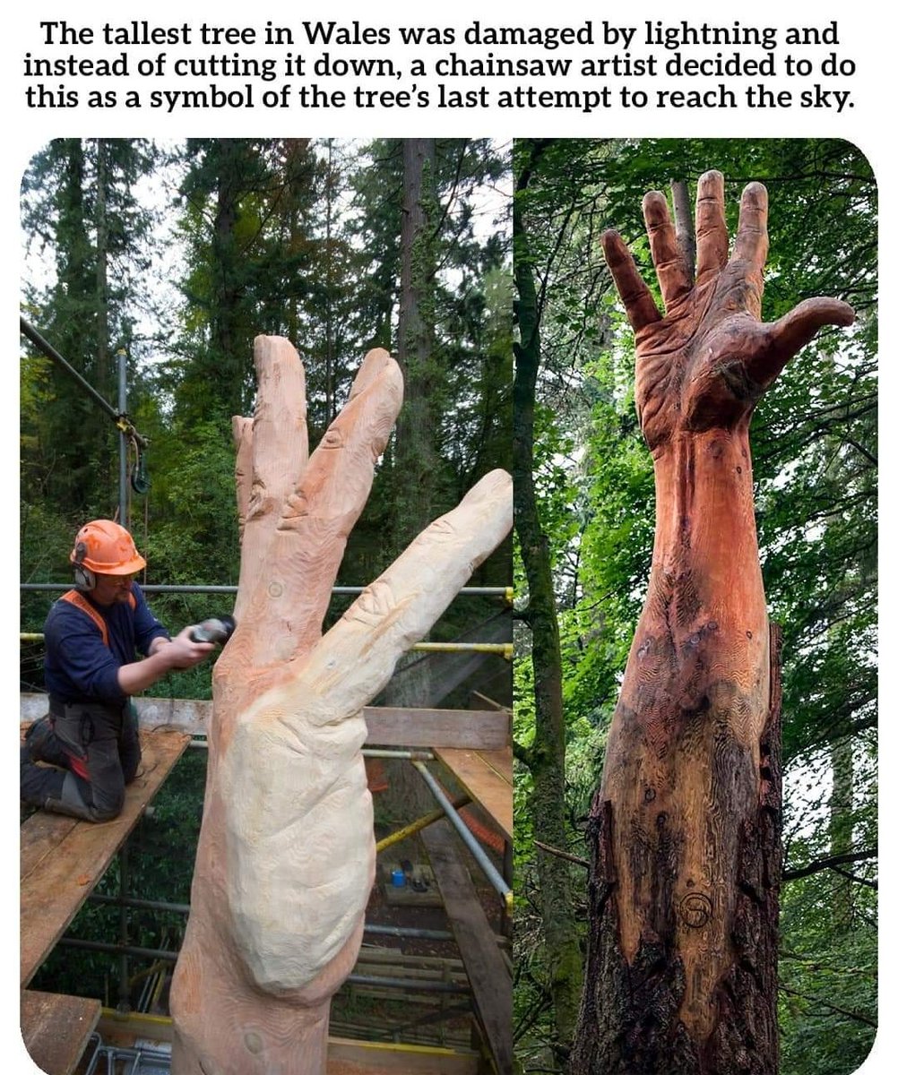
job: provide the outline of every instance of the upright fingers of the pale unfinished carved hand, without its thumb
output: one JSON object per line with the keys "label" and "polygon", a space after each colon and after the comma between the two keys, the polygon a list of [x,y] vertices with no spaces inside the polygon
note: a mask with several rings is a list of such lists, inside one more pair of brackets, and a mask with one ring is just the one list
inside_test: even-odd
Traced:
{"label": "upright fingers of the pale unfinished carved hand, without its thumb", "polygon": [[293,659],[319,636],[346,538],[402,403],[402,376],[387,352],[369,353],[310,458],[296,350],[259,336],[255,359],[255,417],[233,422],[242,529],[234,616],[252,630],[239,627],[225,656],[259,669]]}

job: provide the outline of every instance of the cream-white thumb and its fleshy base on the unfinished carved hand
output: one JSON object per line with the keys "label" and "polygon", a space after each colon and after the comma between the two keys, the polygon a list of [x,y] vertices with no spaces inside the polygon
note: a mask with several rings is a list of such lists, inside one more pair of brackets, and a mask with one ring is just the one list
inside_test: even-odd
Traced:
{"label": "cream-white thumb and its fleshy base on the unfinished carved hand", "polygon": [[238,714],[218,770],[227,900],[260,988],[309,988],[357,944],[374,869],[361,710],[511,525],[511,477],[494,471]]}

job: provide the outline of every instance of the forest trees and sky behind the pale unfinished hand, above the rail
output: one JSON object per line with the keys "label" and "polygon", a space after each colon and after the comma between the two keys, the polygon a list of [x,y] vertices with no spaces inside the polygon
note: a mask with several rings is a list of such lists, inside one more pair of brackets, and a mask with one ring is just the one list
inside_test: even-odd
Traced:
{"label": "forest trees and sky behind the pale unfinished hand, above the rail", "polygon": [[[508,465],[509,152],[487,140],[62,139],[38,153],[22,188],[23,316],[113,406],[125,356],[151,486],[118,504],[115,422],[24,344],[23,582],[65,577],[84,519],[123,510],[148,582],[236,584],[230,422],[252,414],[259,333],[300,353],[313,445],[368,349],[403,368],[407,406],[339,582],[373,577],[422,520]],[[28,597],[26,628],[45,610]]]}

